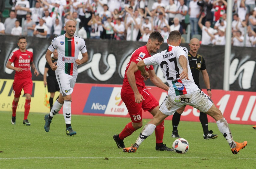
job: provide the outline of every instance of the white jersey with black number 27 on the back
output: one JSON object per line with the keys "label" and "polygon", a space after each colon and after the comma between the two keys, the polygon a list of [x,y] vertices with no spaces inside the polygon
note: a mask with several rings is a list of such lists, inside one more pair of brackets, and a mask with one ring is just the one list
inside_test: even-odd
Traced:
{"label": "white jersey with black number 27 on the back", "polygon": [[187,58],[188,78],[180,79],[182,67],[179,64],[179,57],[183,55],[187,58],[187,48],[181,46],[168,45],[167,50],[157,53],[144,59],[146,65],[159,65],[170,88],[168,95],[178,96],[198,90],[189,67]]}

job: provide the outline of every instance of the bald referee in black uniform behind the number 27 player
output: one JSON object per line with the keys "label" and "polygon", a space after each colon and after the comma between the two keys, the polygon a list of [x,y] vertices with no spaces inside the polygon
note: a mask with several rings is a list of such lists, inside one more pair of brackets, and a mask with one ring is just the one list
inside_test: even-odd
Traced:
{"label": "bald referee in black uniform behind the number 27 player", "polygon": [[[193,76],[193,79],[198,86],[199,89],[199,72],[201,71],[203,75],[203,80],[207,89],[207,94],[211,98],[212,97],[212,92],[210,88],[210,80],[209,80],[209,75],[206,71],[206,64],[203,59],[203,57],[199,54],[197,54],[198,49],[200,48],[200,42],[197,38],[193,38],[190,40],[190,43],[188,44],[190,47],[190,50],[188,52],[188,62],[190,66],[190,70]],[[179,137],[178,135],[178,124],[180,122],[181,114],[183,113],[185,109],[185,106],[179,108],[172,117],[172,137]],[[208,130],[208,118],[206,113],[200,112],[199,115],[200,122],[203,127],[203,138],[204,139],[214,139],[217,138],[218,135],[212,134],[212,130]]]}

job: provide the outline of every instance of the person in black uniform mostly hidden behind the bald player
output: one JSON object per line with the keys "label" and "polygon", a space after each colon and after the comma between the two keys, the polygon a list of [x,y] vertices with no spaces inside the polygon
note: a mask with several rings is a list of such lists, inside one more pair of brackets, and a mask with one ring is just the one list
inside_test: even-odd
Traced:
{"label": "person in black uniform mostly hidden behind the bald player", "polygon": [[[58,60],[58,52],[55,49],[53,52],[52,62],[57,63],[57,60]],[[48,73],[48,76],[47,76],[47,73]],[[50,92],[49,103],[50,103],[50,110],[51,110],[53,107],[53,98],[54,98],[55,92],[59,91],[59,85],[55,76],[55,71],[53,71],[50,68],[47,62],[44,67],[44,87],[46,87],[46,85],[47,85],[48,92]]]}

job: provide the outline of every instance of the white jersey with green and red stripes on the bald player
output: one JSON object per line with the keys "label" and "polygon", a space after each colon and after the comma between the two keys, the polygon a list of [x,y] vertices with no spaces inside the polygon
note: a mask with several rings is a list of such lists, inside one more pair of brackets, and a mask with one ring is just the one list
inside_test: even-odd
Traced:
{"label": "white jersey with green and red stripes on the bald player", "polygon": [[78,59],[79,51],[87,52],[84,39],[76,35],[73,38],[67,38],[65,34],[54,38],[48,49],[51,52],[54,49],[58,51],[56,71],[59,74],[66,73],[75,76],[78,74],[75,60]]}

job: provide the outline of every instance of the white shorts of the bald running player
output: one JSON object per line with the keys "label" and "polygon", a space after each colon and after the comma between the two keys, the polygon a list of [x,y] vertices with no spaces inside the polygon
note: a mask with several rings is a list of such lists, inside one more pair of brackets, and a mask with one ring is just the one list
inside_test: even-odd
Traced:
{"label": "white shorts of the bald running player", "polygon": [[59,84],[59,92],[62,96],[71,95],[75,86],[75,81],[77,76],[69,75],[66,73],[59,74],[57,71],[55,72],[56,79]]}

